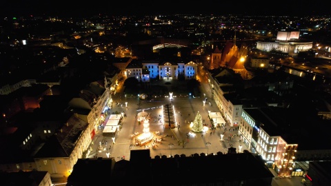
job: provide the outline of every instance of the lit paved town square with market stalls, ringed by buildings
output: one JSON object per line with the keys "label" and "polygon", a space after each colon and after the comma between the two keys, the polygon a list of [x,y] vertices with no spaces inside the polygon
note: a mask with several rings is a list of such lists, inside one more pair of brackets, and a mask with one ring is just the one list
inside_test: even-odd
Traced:
{"label": "lit paved town square with market stalls, ringed by buildings", "polygon": [[[172,85],[176,86],[178,83],[180,82],[173,81]],[[114,134],[115,143],[108,143],[103,149],[111,149],[110,156],[116,161],[122,158],[129,159],[132,149],[150,149],[152,158],[170,156],[170,154],[185,154],[185,156],[201,153],[217,154],[217,152],[227,154],[230,147],[235,148],[237,153],[248,149],[241,143],[237,127],[225,123],[218,108],[213,106],[208,86],[201,85],[205,88],[201,90],[205,92],[202,94],[205,96],[199,98],[189,95],[179,96],[174,92],[173,96],[165,95],[157,98],[157,101],[145,101],[138,95],[125,96],[119,85],[117,94],[113,96],[113,100],[118,101],[118,104],[112,107],[110,113],[124,112],[126,117],[123,117],[121,130]],[[122,99],[122,104],[123,97],[126,99]],[[208,104],[203,103],[205,98]],[[126,101],[128,107],[124,106]],[[169,112],[164,111],[166,106],[170,107],[173,119],[169,120]],[[201,132],[192,130],[197,115],[201,115],[203,122]],[[109,136],[102,135],[102,130],[98,130],[94,139],[96,141],[94,144],[99,144],[99,141],[112,141]],[[90,157],[107,157],[107,153],[107,150],[91,152]]]}

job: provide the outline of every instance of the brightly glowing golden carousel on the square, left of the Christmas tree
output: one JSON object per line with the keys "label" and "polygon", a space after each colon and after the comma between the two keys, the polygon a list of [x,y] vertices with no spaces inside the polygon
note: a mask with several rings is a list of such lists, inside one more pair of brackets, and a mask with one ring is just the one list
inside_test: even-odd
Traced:
{"label": "brightly glowing golden carousel on the square, left of the Christmas tree", "polygon": [[143,112],[139,112],[139,114],[137,114],[138,121],[143,123],[143,133],[138,134],[135,137],[135,141],[137,145],[143,146],[153,141],[154,134],[150,132],[150,123],[149,123],[149,120],[151,118],[152,117],[150,116],[150,113],[145,112],[144,110]]}

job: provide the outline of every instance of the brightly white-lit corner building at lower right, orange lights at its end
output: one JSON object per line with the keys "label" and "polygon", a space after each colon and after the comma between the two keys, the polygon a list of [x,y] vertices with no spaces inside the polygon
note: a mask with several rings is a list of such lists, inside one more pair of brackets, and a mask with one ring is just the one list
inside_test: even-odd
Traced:
{"label": "brightly white-lit corner building at lower right, orange lights at its end", "polygon": [[292,176],[297,144],[283,137],[281,123],[267,108],[244,108],[239,123],[239,136],[252,153],[260,154],[268,167],[281,177]]}

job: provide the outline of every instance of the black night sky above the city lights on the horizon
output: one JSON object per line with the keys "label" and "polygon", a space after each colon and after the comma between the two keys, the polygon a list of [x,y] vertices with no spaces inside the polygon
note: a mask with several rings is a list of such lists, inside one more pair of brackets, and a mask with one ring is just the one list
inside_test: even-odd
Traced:
{"label": "black night sky above the city lights on the horizon", "polygon": [[[199,1],[198,1],[199,2]],[[261,3],[263,2],[263,3]],[[29,14],[83,16],[95,14],[257,14],[257,15],[325,15],[328,6],[303,1],[50,1],[4,0],[1,16]]]}

